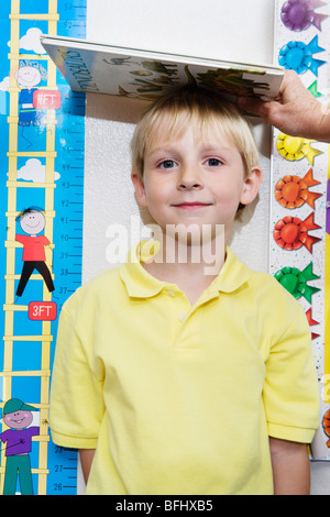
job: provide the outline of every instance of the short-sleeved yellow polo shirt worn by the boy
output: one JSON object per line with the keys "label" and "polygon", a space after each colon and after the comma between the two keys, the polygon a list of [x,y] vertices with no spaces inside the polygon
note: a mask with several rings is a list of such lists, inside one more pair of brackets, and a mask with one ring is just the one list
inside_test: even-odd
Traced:
{"label": "short-sleeved yellow polo shirt worn by the boy", "polygon": [[193,307],[139,257],[63,307],[53,440],[96,449],[87,494],[272,494],[268,435],[319,424],[302,308],[230,250]]}

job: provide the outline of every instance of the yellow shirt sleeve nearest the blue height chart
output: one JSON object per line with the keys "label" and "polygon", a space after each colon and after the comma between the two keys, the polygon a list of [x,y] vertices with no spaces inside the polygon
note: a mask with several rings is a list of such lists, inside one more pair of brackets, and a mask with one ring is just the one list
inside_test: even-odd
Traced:
{"label": "yellow shirt sleeve nearest the blue height chart", "polygon": [[[80,318],[81,319],[81,318]],[[62,447],[95,449],[105,414],[102,364],[95,358],[92,318],[74,317],[64,306],[57,332],[51,388],[50,425]],[[78,321],[77,321],[78,320]]]}

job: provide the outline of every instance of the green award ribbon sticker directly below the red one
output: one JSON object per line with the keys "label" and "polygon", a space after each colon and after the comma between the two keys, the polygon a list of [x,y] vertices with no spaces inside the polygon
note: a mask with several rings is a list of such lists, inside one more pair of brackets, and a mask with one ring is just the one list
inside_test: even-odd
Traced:
{"label": "green award ribbon sticker directly below the red one", "polygon": [[320,290],[318,287],[307,285],[308,280],[320,278],[312,273],[312,263],[310,262],[304,271],[297,267],[283,267],[275,273],[275,278],[288,290],[296,299],[304,296],[311,304],[311,296]]}

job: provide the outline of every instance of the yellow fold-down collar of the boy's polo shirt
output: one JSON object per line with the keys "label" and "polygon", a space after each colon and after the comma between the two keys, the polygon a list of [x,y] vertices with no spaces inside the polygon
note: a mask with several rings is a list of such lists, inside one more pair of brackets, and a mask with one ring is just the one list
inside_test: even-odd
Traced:
{"label": "yellow fold-down collar of the boy's polo shirt", "polygon": [[[158,249],[160,243],[156,241],[141,241],[132,248],[128,261],[120,266],[119,274],[130,297],[151,298],[158,295],[165,286],[168,287],[168,284],[158,280],[142,266],[142,263],[155,255]],[[227,248],[224,264],[207,290],[232,293],[249,278],[249,268],[239,261],[230,248]]]}

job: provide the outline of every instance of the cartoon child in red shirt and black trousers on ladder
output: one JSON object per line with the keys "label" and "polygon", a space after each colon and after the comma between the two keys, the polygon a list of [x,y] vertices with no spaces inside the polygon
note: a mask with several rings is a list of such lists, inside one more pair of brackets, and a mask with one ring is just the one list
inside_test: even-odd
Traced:
{"label": "cartoon child in red shirt and black trousers on ladder", "polygon": [[16,296],[22,296],[32,272],[36,270],[44,278],[48,292],[52,293],[55,287],[52,280],[50,270],[45,263],[45,246],[51,242],[45,235],[38,235],[45,228],[45,218],[43,213],[34,208],[28,208],[19,215],[22,230],[26,235],[16,234],[15,240],[23,244],[23,270],[16,290]]}

